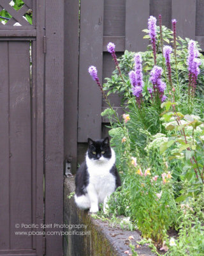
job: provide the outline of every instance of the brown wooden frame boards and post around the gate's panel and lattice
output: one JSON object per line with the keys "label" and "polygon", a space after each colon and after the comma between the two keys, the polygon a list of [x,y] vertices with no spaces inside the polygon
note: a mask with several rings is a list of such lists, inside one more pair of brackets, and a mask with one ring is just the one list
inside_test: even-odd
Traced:
{"label": "brown wooden frame boards and post around the gate's panel and lattice", "polygon": [[[33,177],[33,191],[36,193],[33,197],[33,207],[36,207],[36,211],[33,219],[36,221],[35,224],[40,226],[41,223],[63,223],[64,1],[33,0],[33,2],[33,12],[36,12],[33,22],[36,23],[36,27],[0,26],[0,40],[33,42],[35,64],[32,90],[34,99],[32,147],[33,168],[36,168],[36,175]],[[44,177],[45,191],[43,191]],[[52,230],[56,231],[46,228],[45,232]],[[43,230],[38,229],[38,231]],[[33,238],[36,255],[43,256],[45,253],[49,256],[63,255],[62,238],[62,236],[36,236],[36,239]],[[25,250],[24,253],[30,255],[31,252]]]}

